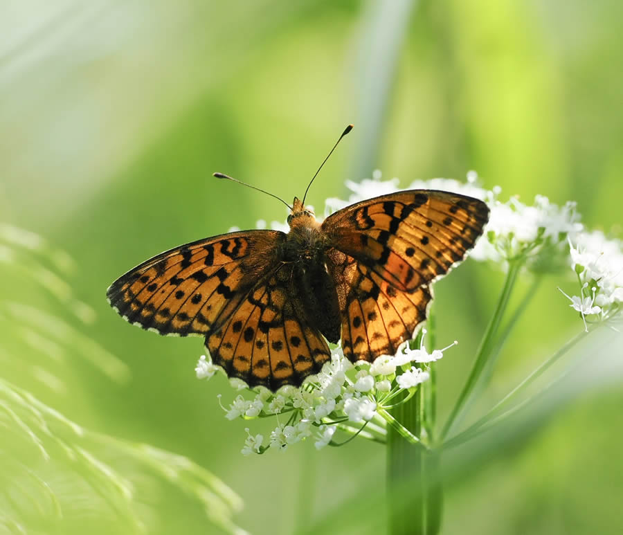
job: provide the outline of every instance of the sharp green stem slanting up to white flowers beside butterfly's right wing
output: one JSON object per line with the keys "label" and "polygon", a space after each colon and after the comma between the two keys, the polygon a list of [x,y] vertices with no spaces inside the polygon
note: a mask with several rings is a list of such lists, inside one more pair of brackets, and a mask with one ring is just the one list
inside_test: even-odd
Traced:
{"label": "sharp green stem slanting up to white flowers beside butterfly's right wing", "polygon": [[502,293],[500,293],[500,298],[498,299],[498,303],[496,305],[496,309],[494,311],[493,316],[491,316],[491,320],[489,320],[489,325],[487,325],[487,329],[485,330],[485,334],[482,336],[482,340],[480,341],[480,346],[478,347],[478,352],[476,352],[476,360],[473,363],[473,367],[471,368],[471,373],[469,374],[469,378],[461,391],[455,406],[446,421],[446,425],[444,426],[440,440],[448,435],[451,431],[452,427],[457,423],[458,419],[463,415],[464,410],[467,406],[467,401],[471,398],[471,394],[476,387],[476,384],[480,380],[480,376],[482,374],[482,370],[485,369],[485,365],[487,365],[487,361],[489,360],[489,356],[491,355],[491,351],[494,349],[494,345],[496,342],[496,334],[498,333],[498,329],[500,327],[500,323],[504,316],[504,312],[508,306],[509,298],[512,293],[515,281],[517,279],[517,275],[521,270],[521,266],[523,265],[523,257],[515,260],[509,260],[508,263],[508,273],[506,274],[506,280],[504,282],[504,287],[502,289]]}

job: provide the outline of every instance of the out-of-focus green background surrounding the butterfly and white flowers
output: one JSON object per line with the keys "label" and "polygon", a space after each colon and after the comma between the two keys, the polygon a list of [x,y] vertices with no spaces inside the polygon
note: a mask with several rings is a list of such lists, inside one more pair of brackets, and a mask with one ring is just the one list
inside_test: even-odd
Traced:
{"label": "out-of-focus green background surrounding the butterfly and white flowers", "polygon": [[[132,532],[136,518],[148,531],[213,529],[200,508],[189,512],[179,482],[163,484],[153,465],[142,473],[136,443],[215,473],[244,500],[235,520],[254,534],[384,525],[376,518],[381,446],[355,441],[316,453],[309,444],[242,457],[244,426],[226,421],[215,399],[229,394],[226,381],[195,379],[200,341],[147,334],[107,306],[110,282],[165,248],[285,219],[273,199],[211,172],[290,201],[354,123],[310,191],[320,213],[323,199],[344,194],[344,179],[377,167],[402,183],[475,169],[487,187],[524,200],[575,199],[588,226],[620,229],[623,14],[615,0],[26,0],[0,9],[3,391],[28,394],[96,437],[119,437],[118,448],[80,442],[124,479],[141,472],[139,509],[121,498],[106,506],[119,531]],[[68,254],[42,253],[48,242]],[[437,284],[437,339],[460,341],[439,367],[442,417],[501,280],[468,262]],[[522,284],[518,298],[530,288]],[[474,417],[581,328],[559,284],[548,276],[539,285]],[[620,344],[583,347],[575,368],[584,371],[602,362],[598,353],[621,359]],[[521,435],[500,430],[480,453],[449,462],[444,532],[620,532],[623,389],[597,383],[579,400],[548,404],[560,411],[576,399],[557,417],[535,417]],[[58,433],[72,445],[69,430]],[[72,478],[69,461],[55,455],[38,471],[32,448],[16,451],[3,454],[3,478],[16,463],[30,466],[36,477],[22,471],[26,479],[11,484],[49,498],[31,519],[57,514],[52,482],[65,489],[61,499],[80,498],[64,507],[97,511],[98,485],[81,486],[93,473]],[[0,529],[17,532],[11,511],[3,504]],[[337,523],[345,511],[363,522],[358,531]]]}

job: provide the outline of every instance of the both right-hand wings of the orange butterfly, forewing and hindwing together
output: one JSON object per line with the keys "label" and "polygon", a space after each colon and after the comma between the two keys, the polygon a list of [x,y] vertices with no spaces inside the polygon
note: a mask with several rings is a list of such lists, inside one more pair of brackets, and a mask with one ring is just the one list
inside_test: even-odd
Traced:
{"label": "both right-hand wings of the orange butterfly, forewing and hindwing together", "polygon": [[484,202],[435,190],[383,195],[327,217],[344,354],[373,361],[395,353],[426,319],[428,283],[463,259],[488,219]]}

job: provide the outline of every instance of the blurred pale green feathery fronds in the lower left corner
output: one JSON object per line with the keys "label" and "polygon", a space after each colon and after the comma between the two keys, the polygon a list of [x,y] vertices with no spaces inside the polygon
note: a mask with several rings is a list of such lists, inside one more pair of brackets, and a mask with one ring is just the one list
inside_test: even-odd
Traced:
{"label": "blurred pale green feathery fronds in the lower left corner", "polygon": [[[169,533],[207,521],[220,532],[244,534],[231,520],[242,500],[208,470],[187,457],[84,428],[57,409],[82,417],[88,412],[82,406],[86,385],[72,386],[72,364],[79,359],[107,388],[127,385],[129,369],[84,334],[92,329],[93,310],[73,297],[63,273],[71,268],[66,253],[3,224],[0,260],[1,278],[10,281],[0,300],[3,375],[30,388],[0,378],[0,532]],[[29,305],[28,290],[60,301],[64,315]],[[95,423],[97,415],[86,419]]]}

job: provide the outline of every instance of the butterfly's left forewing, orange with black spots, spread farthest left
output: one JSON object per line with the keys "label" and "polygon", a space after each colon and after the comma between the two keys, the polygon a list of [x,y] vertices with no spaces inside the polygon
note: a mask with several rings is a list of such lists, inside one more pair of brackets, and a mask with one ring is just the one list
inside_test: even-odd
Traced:
{"label": "butterfly's left forewing, orange with black spots, spread farthest left", "polygon": [[286,235],[249,230],[201,239],[136,266],[107,290],[129,323],[159,334],[208,334],[278,264]]}

